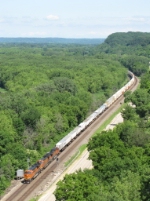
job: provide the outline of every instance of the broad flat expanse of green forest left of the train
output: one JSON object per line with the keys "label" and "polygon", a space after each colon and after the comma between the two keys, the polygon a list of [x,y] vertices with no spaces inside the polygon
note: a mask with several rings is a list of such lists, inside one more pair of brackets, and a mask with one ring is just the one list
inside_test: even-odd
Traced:
{"label": "broad flat expanse of green forest left of the train", "polygon": [[127,69],[100,55],[91,45],[0,45],[0,194],[127,82]]}

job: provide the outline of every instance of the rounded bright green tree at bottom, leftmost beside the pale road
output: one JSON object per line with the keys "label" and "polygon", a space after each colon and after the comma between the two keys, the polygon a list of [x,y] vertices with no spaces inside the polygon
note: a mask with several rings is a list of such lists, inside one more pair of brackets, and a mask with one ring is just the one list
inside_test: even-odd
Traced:
{"label": "rounded bright green tree at bottom, leftmost beside the pale road", "polygon": [[57,185],[57,201],[95,201],[99,194],[98,181],[88,171],[67,175]]}

